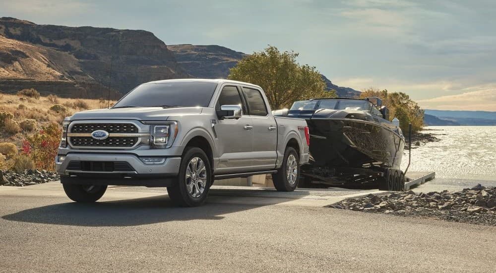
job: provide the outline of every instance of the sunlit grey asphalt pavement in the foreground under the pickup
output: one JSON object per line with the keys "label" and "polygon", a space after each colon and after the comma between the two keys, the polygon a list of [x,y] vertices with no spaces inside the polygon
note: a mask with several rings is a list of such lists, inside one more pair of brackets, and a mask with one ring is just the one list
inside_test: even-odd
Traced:
{"label": "sunlit grey asphalt pavement in the foreground under the pickup", "polygon": [[236,200],[241,192],[222,189],[202,207],[179,208],[160,191],[133,194],[116,189],[98,203],[76,204],[63,193],[16,194],[4,188],[0,187],[0,272],[496,268],[496,228],[489,226],[302,206],[285,198],[280,198],[285,205],[236,204],[222,200]]}

